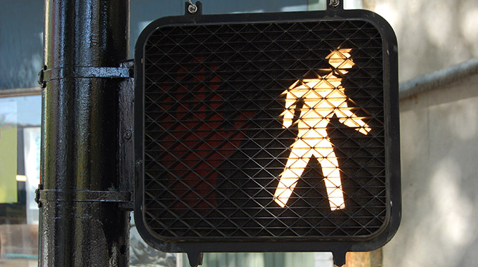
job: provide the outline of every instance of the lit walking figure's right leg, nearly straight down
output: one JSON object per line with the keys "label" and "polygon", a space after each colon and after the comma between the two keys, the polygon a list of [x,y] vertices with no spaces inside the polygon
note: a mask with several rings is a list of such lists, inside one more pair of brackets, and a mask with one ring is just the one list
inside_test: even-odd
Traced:
{"label": "lit walking figure's right leg, nearly straight down", "polygon": [[344,192],[342,191],[339,162],[332,148],[332,143],[328,138],[324,138],[318,144],[316,151],[321,154],[318,155],[318,161],[321,163],[330,209],[332,211],[344,209]]}

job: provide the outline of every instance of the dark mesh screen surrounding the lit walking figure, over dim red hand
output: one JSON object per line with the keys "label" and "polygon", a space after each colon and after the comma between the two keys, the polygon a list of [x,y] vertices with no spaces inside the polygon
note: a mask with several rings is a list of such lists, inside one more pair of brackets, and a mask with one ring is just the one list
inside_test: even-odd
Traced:
{"label": "dark mesh screen surrounding the lit walking figure, over dim red hand", "polygon": [[[349,48],[353,67],[330,64]],[[342,55],[343,56],[343,55]],[[362,20],[160,27],[144,54],[144,204],[165,239],[368,237],[387,216],[382,39]],[[324,117],[343,207],[331,209],[325,162],[309,155],[285,207],[275,201],[306,100],[283,126],[288,96],[328,74],[370,128]],[[310,87],[310,86],[309,86]],[[319,97],[319,96],[316,96]],[[301,103],[301,100],[302,101]],[[312,127],[312,126],[311,126]],[[325,140],[325,137],[324,137]]]}

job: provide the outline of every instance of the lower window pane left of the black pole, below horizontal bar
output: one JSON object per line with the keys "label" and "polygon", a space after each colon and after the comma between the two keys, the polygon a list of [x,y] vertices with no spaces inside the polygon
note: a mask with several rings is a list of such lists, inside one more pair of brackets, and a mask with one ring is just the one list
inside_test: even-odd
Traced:
{"label": "lower window pane left of the black pole, below horizontal bar", "polygon": [[32,93],[0,95],[0,265],[37,264],[41,96]]}

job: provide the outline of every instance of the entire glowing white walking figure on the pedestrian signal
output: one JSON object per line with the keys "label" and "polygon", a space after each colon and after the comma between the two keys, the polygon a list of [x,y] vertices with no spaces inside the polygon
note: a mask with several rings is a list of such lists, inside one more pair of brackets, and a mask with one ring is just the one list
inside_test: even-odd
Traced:
{"label": "entire glowing white walking figure on the pedestrian signal", "polygon": [[[297,124],[298,134],[290,146],[290,155],[273,197],[280,207],[285,207],[297,181],[314,156],[322,167],[330,209],[345,208],[339,164],[326,131],[327,125],[330,118],[336,115],[342,124],[360,133],[368,134],[370,131],[368,124],[362,120],[364,117],[357,117],[352,112],[354,108],[348,107],[348,98],[341,86],[340,74],[346,74],[347,69],[354,65],[350,51],[344,48],[332,51],[326,59],[335,71],[316,79],[298,80],[283,92],[286,95],[285,111],[280,115],[283,117],[283,128],[292,126],[292,123]],[[302,108],[297,107],[299,103],[302,103]],[[294,119],[298,108],[300,115]]]}

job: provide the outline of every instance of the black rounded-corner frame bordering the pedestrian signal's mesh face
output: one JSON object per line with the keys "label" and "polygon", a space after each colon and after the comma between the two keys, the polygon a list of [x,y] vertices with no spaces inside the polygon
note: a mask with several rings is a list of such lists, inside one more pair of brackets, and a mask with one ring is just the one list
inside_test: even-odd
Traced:
{"label": "black rounded-corner frame bordering the pedestrian signal's mesh face", "polygon": [[[342,240],[314,240],[304,237],[293,240],[167,240],[155,235],[147,226],[143,216],[143,96],[144,96],[144,49],[150,34],[160,27],[180,25],[207,25],[217,23],[292,22],[324,20],[365,20],[374,25],[382,36],[384,72],[384,108],[387,135],[385,140],[387,165],[387,219],[380,230],[367,238],[343,238]],[[159,18],[148,25],[136,41],[135,103],[134,103],[134,145],[135,145],[135,197],[134,218],[141,237],[156,249],[164,252],[332,252],[342,255],[346,252],[365,252],[385,245],[395,235],[401,221],[401,174],[399,151],[399,83],[398,46],[396,35],[389,23],[380,15],[365,10],[344,10],[328,8],[326,11],[301,11],[290,13],[242,13],[202,15],[188,14]],[[385,64],[387,63],[387,64]],[[200,247],[200,248],[198,248]]]}

